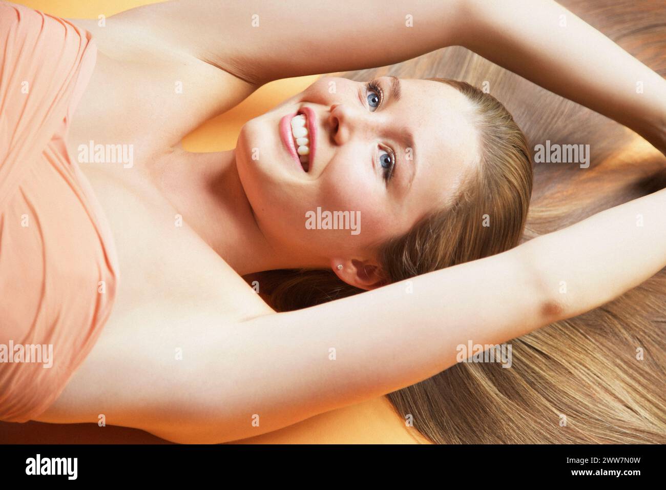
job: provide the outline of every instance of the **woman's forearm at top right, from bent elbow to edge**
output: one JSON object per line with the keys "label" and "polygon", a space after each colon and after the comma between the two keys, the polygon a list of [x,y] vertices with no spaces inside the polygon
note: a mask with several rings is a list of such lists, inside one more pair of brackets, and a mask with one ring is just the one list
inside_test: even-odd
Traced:
{"label": "woman's forearm at top right, from bent elbow to edge", "polygon": [[666,80],[597,29],[553,0],[462,5],[461,45],[633,129],[666,154]]}

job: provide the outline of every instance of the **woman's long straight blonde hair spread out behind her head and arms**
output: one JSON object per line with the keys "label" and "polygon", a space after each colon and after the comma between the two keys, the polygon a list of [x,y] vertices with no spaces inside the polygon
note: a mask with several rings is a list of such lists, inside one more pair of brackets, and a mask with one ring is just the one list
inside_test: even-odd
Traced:
{"label": "woman's long straight blonde hair spread out behind her head and arms", "polygon": [[[603,32],[611,39],[625,33]],[[500,253],[664,187],[663,157],[638,147],[638,137],[616,123],[462,48],[437,56],[448,75],[479,85],[492,79],[498,97],[519,100],[513,113],[529,138],[492,95],[468,83],[432,79],[458,88],[476,106],[482,158],[450,207],[378,246],[390,282]],[[368,75],[360,71],[350,78]],[[529,101],[538,105],[529,107]],[[593,165],[533,167],[527,141],[542,142],[543,135],[590,143]],[[492,217],[492,226],[480,226],[484,215]],[[513,339],[510,369],[458,363],[388,398],[435,443],[665,443],[665,272],[603,307]],[[361,291],[333,271],[268,271],[260,281],[278,311]]]}

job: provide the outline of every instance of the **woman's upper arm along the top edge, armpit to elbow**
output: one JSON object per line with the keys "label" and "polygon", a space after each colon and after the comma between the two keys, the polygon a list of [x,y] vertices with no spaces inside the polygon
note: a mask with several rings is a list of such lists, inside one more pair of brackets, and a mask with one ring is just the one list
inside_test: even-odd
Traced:
{"label": "woman's upper arm along the top edge, armpit to elbow", "polygon": [[455,44],[466,0],[171,0],[113,17],[261,85],[391,65]]}

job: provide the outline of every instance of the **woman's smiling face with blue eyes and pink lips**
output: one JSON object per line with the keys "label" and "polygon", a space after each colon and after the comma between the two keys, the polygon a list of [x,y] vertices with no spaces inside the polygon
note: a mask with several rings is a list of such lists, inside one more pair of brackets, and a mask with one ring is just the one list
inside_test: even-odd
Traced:
{"label": "woman's smiling face with blue eyes and pink lips", "polygon": [[[376,263],[372,245],[444,207],[478,162],[474,109],[457,89],[420,79],[377,82],[381,92],[322,77],[242,127],[236,165],[257,223],[300,267]],[[307,171],[288,149],[290,117],[304,107],[311,109],[305,127],[314,129],[302,145],[310,150]],[[348,211],[348,219],[335,211]],[[338,229],[330,229],[335,216]]]}

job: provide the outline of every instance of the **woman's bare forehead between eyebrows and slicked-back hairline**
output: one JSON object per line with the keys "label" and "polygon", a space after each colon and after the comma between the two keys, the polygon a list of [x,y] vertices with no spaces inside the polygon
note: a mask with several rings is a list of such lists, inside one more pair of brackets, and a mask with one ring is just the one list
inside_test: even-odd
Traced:
{"label": "woman's bare forehead between eyebrows and slicked-back hairline", "polygon": [[414,213],[424,214],[445,206],[478,162],[476,109],[446,83],[400,81],[402,94],[395,109],[416,140],[416,176],[407,201],[416,208]]}

